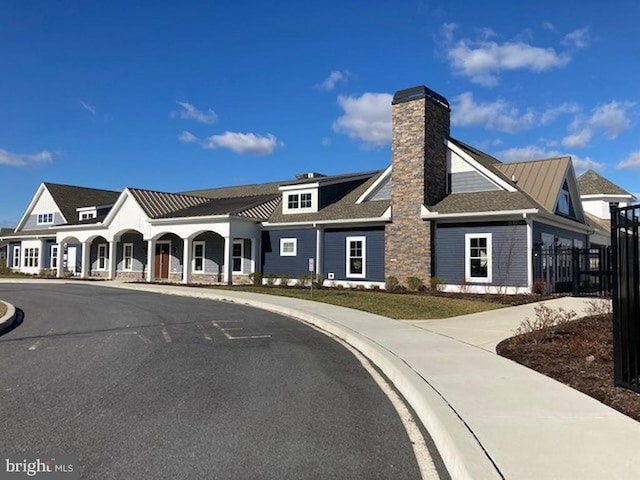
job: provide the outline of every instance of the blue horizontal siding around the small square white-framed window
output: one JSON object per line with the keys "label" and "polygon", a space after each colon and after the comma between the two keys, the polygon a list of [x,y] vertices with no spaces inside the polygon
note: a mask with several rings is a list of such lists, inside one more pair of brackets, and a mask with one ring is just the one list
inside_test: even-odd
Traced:
{"label": "blue horizontal siding around the small square white-framed window", "polygon": [[[297,239],[296,256],[280,256],[280,239]],[[262,232],[262,272],[265,275],[309,275],[309,259],[316,257],[316,230],[264,230]]]}

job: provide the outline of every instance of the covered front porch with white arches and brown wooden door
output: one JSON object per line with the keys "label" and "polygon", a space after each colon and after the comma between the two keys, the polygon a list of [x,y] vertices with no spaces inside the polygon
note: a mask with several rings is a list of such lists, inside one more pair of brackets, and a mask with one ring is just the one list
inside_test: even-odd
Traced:
{"label": "covered front porch with white arches and brown wooden door", "polygon": [[[57,276],[184,284],[249,283],[259,268],[259,231],[247,222],[59,233]],[[211,228],[213,227],[213,228]],[[72,254],[68,253],[72,252]],[[73,258],[71,258],[71,256]]]}

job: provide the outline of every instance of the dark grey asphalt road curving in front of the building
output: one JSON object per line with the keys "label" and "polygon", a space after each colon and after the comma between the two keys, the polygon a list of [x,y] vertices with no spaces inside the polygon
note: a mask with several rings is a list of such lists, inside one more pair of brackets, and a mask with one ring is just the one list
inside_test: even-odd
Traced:
{"label": "dark grey asphalt road curving in front of the building", "polygon": [[387,397],[342,346],[233,304],[0,284],[0,451],[87,479],[420,478]]}

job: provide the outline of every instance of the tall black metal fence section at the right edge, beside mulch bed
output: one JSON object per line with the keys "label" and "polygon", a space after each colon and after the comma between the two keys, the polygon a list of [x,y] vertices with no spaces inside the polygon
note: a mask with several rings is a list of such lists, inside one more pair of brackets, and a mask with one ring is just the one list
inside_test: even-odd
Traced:
{"label": "tall black metal fence section at the right edge, beside mulch bed", "polygon": [[616,386],[640,392],[640,206],[611,207],[613,367]]}

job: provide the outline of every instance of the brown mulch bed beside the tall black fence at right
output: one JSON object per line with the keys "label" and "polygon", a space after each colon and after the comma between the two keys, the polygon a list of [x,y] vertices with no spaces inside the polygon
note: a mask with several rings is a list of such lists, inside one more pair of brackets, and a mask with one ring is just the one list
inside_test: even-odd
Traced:
{"label": "brown mulch bed beside the tall black fence at right", "polygon": [[512,337],[496,350],[640,421],[640,394],[613,385],[611,314]]}

